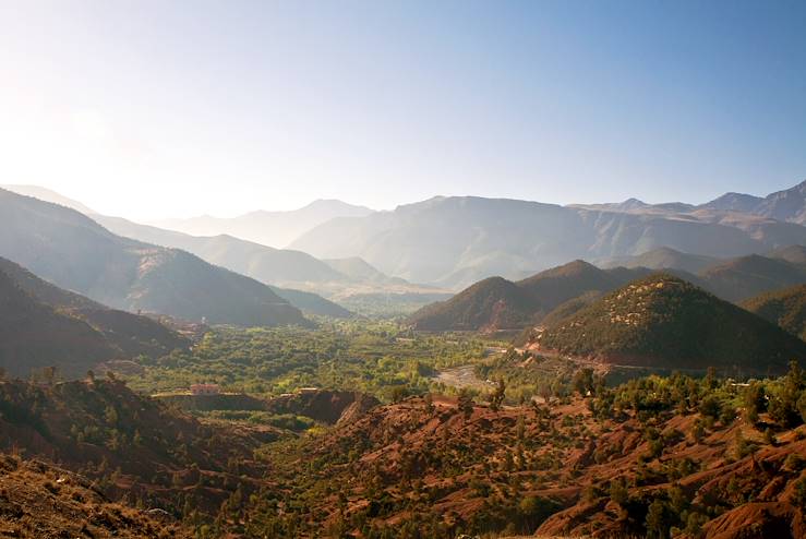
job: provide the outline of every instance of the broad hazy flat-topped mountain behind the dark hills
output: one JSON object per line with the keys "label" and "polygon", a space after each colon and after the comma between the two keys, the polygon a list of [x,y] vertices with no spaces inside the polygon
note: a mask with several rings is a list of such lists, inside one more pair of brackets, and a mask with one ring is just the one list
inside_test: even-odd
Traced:
{"label": "broad hazy flat-topped mountain behind the dark hills", "polygon": [[[774,225],[763,221],[744,230],[695,216],[454,196],[333,219],[290,247],[320,259],[360,256],[387,275],[461,289],[490,275],[521,278],[568,260],[635,255],[660,247],[730,257],[806,243],[806,228]],[[803,241],[792,241],[793,235]]]}

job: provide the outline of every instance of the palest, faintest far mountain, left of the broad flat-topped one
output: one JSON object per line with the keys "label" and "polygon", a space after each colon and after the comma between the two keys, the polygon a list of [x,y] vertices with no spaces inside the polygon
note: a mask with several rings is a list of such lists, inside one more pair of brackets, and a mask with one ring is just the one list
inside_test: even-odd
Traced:
{"label": "palest, faintest far mountain, left of the broad flat-topped one", "polygon": [[318,200],[290,212],[252,212],[233,218],[210,216],[191,219],[164,219],[155,221],[168,228],[192,236],[229,235],[264,245],[286,247],[303,232],[336,217],[360,217],[372,209],[353,206],[336,200]]}

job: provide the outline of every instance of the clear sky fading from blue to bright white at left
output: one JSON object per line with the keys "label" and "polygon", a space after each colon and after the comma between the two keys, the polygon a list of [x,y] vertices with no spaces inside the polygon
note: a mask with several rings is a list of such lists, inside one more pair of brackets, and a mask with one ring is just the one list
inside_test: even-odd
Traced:
{"label": "clear sky fading from blue to bright white at left", "polygon": [[806,179],[806,2],[0,0],[0,183],[135,219]]}

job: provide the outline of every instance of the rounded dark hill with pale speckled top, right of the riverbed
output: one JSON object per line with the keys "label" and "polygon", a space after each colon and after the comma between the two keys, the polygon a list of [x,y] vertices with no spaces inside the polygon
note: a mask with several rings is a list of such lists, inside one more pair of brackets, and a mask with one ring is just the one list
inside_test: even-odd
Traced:
{"label": "rounded dark hill with pale speckled top, right of the riverbed", "polygon": [[671,275],[622,287],[546,328],[541,349],[604,363],[708,366],[779,372],[806,360],[806,344],[763,319]]}

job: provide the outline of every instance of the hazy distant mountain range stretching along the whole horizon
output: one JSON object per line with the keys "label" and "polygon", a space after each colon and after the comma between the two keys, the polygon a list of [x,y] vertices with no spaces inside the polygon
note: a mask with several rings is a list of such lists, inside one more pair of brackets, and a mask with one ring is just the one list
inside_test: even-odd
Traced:
{"label": "hazy distant mountain range stretching along the whole horizon", "polygon": [[[92,212],[52,191],[15,189]],[[215,226],[204,230],[215,230],[215,236],[192,236],[91,215],[117,236],[181,249],[269,285],[268,291],[280,301],[285,299],[306,312],[348,315],[341,306],[383,302],[384,298],[411,299],[414,306],[418,301],[422,306],[435,297],[444,298],[440,295],[446,290],[460,290],[491,275],[518,280],[576,259],[604,268],[673,270],[723,299],[739,301],[802,282],[802,268],[792,267],[802,264],[793,264],[790,259],[806,257],[792,251],[806,244],[806,227],[796,216],[798,204],[806,207],[805,192],[802,183],[763,199],[727,193],[700,205],[647,204],[630,199],[615,204],[557,206],[455,196],[399,206],[393,212],[317,201],[297,212],[254,212],[242,218],[213,219],[209,223]],[[296,224],[287,225],[282,219]],[[289,249],[275,249],[220,233],[227,230],[222,221],[244,224],[254,233],[273,229],[272,223],[306,231]],[[199,232],[202,228],[189,230]],[[790,245],[794,245],[790,252],[773,254]],[[758,254],[768,256],[746,257]],[[726,266],[719,267],[722,262]],[[55,280],[47,272],[44,276]],[[63,284],[95,297],[86,285],[76,287],[70,280]],[[99,299],[113,307],[127,306],[120,298]]]}

